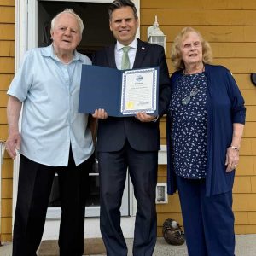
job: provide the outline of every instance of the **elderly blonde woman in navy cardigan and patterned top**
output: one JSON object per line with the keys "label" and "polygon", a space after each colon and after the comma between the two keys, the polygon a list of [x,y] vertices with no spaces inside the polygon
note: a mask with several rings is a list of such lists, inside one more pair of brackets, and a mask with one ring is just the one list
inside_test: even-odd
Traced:
{"label": "elderly blonde woman in navy cardigan and patterned top", "polygon": [[232,186],[245,107],[230,71],[185,27],[172,45],[167,113],[168,193],[178,189],[189,256],[233,256]]}

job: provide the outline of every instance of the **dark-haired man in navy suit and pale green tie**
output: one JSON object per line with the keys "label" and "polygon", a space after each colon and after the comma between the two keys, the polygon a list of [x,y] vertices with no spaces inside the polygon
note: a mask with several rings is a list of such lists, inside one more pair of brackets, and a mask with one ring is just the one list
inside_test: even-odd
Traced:
{"label": "dark-haired man in navy suit and pale green tie", "polygon": [[128,68],[159,66],[159,116],[137,113],[134,117],[115,118],[108,116],[101,108],[93,114],[99,119],[97,150],[102,238],[108,256],[127,255],[120,228],[119,208],[128,168],[137,199],[133,255],[152,255],[156,241],[155,187],[160,149],[159,117],[165,113],[170,95],[165,51],[159,45],[136,38],[139,21],[136,7],[130,0],[113,1],[108,12],[110,30],[117,42],[97,52],[94,65],[125,69],[122,67],[125,55],[123,48],[129,46]]}

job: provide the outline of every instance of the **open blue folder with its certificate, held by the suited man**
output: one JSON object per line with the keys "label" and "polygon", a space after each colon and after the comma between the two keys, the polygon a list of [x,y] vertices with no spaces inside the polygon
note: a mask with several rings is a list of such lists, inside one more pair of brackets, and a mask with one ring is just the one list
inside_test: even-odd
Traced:
{"label": "open blue folder with its certificate, held by the suited man", "polygon": [[79,112],[104,108],[108,116],[134,116],[138,112],[158,114],[159,67],[118,70],[82,66]]}

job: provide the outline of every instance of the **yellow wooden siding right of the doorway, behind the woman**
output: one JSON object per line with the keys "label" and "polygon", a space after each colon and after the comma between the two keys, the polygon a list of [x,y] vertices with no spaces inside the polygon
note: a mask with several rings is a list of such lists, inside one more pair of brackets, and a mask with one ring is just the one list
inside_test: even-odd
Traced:
{"label": "yellow wooden siding right of the doorway, behind the woman", "polygon": [[[184,26],[198,29],[210,42],[213,64],[228,67],[245,98],[247,124],[241,144],[241,159],[234,184],[236,233],[256,233],[256,87],[250,73],[256,72],[256,5],[253,0],[141,1],[141,38],[147,40],[148,26],[158,16],[166,34],[166,58],[169,72],[173,38]],[[161,144],[166,144],[165,118],[160,122]],[[166,166],[159,166],[159,182],[166,181]],[[169,196],[167,205],[158,205],[158,236],[166,218],[182,224],[177,195]]]}

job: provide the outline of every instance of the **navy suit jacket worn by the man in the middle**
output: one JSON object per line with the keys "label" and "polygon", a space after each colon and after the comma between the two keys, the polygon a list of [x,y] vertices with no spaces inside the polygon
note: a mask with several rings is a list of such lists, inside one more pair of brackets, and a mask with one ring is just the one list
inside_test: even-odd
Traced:
{"label": "navy suit jacket worn by the man in the middle", "polygon": [[[139,39],[133,68],[160,67],[159,74],[159,116],[166,113],[170,100],[170,79],[164,48]],[[96,52],[93,64],[102,67],[116,67],[115,44]],[[121,84],[120,84],[121,86]],[[157,151],[160,149],[159,121],[143,123],[135,117],[111,117],[99,120],[97,132],[97,150],[100,152],[119,151],[125,140],[139,151]]]}

